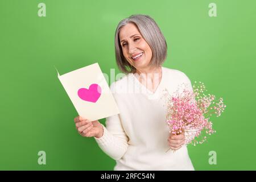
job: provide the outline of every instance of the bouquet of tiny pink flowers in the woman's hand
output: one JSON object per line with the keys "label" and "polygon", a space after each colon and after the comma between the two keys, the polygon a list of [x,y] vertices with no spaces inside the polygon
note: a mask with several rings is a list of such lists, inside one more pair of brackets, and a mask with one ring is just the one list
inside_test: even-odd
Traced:
{"label": "bouquet of tiny pink flowers in the woman's hand", "polygon": [[[204,143],[208,135],[216,133],[212,128],[210,117],[217,117],[224,111],[226,105],[223,99],[218,100],[212,94],[204,94],[206,90],[203,82],[193,84],[193,90],[188,85],[181,85],[172,95],[164,94],[167,102],[166,122],[170,133],[179,135],[185,133],[185,144]],[[182,89],[182,90],[180,90]],[[169,149],[170,150],[170,149]]]}

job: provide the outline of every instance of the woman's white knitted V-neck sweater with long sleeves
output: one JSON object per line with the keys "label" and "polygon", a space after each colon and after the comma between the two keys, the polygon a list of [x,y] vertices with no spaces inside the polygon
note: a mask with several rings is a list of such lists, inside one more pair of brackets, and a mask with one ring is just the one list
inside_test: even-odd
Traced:
{"label": "woman's white knitted V-neck sweater with long sleeves", "polygon": [[164,89],[175,92],[182,83],[192,89],[183,72],[162,67],[162,78],[154,93],[133,74],[110,86],[120,113],[106,118],[104,134],[94,139],[116,160],[114,170],[194,170],[187,146],[166,152],[170,133],[162,94]]}

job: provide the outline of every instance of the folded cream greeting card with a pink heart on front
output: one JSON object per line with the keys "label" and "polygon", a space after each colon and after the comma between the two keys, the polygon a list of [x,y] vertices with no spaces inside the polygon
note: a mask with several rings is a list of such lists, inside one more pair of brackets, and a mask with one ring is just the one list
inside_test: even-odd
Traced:
{"label": "folded cream greeting card with a pink heart on front", "polygon": [[95,121],[119,114],[118,106],[98,63],[61,76],[57,73],[81,117]]}

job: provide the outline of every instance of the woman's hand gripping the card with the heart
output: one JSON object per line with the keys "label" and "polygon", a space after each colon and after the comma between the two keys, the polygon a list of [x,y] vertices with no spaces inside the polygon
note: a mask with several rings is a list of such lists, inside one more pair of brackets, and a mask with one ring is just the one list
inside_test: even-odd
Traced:
{"label": "woman's hand gripping the card with the heart", "polygon": [[90,122],[88,119],[82,118],[80,115],[74,119],[76,129],[82,137],[101,138],[103,135],[103,127],[98,120]]}

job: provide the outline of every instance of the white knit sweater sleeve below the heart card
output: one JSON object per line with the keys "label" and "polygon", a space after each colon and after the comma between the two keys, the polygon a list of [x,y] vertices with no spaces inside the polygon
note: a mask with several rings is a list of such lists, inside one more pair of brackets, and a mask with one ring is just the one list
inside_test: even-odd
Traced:
{"label": "white knit sweater sleeve below the heart card", "polygon": [[[113,85],[110,86],[113,91]],[[113,94],[115,96],[115,94]],[[102,125],[102,124],[101,124]],[[98,146],[107,155],[115,160],[122,158],[128,147],[128,137],[123,129],[119,114],[112,115],[106,118],[106,127],[103,127],[103,135],[101,138],[96,138]]]}

